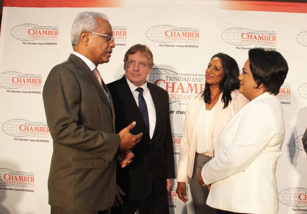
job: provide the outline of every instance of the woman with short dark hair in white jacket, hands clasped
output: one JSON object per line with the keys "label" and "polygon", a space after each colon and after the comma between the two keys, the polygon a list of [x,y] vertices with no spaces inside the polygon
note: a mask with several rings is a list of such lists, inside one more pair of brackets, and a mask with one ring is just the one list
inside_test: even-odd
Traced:
{"label": "woman with short dark hair in white jacket, hands clasped", "polygon": [[207,204],[217,213],[275,214],[275,170],[285,137],[276,95],[288,64],[276,51],[254,48],[248,56],[239,92],[250,102],[220,132],[214,158],[204,165],[199,179],[203,185],[211,184]]}

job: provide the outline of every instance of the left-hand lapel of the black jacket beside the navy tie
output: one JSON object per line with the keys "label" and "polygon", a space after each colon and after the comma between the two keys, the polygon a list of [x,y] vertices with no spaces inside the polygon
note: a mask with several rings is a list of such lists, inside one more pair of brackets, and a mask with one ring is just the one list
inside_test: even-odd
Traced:
{"label": "left-hand lapel of the black jacket beside the navy tie", "polygon": [[[123,103],[125,103],[125,105],[130,109],[130,112],[135,117],[135,121],[137,123],[141,123],[141,127],[146,127],[143,117],[140,113],[140,110],[138,109],[138,105],[135,102],[135,99],[133,97],[133,94],[131,93],[130,87],[128,86],[125,76],[123,76],[120,79],[119,84],[116,87],[120,92],[119,96],[121,97]],[[148,132],[146,128],[144,128],[142,132],[144,132],[145,130],[146,132]]]}

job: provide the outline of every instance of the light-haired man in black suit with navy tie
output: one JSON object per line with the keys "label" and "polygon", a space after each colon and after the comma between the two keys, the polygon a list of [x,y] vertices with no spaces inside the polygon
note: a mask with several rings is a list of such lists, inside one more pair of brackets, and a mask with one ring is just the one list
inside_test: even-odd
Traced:
{"label": "light-haired man in black suit with navy tie", "polygon": [[116,132],[136,121],[131,133],[143,133],[132,149],[133,162],[117,169],[116,202],[121,205],[114,213],[134,214],[137,209],[140,214],[169,213],[167,191],[175,178],[169,99],[164,89],[146,81],[153,65],[150,49],[136,44],[125,54],[126,75],[107,84]]}

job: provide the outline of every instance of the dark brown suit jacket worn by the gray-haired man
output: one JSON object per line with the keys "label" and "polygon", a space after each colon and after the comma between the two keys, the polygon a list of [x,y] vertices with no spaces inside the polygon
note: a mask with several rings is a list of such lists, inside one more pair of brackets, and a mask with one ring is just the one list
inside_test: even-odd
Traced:
{"label": "dark brown suit jacket worn by the gray-haired man", "polygon": [[43,99],[53,139],[49,204],[73,212],[110,208],[120,138],[115,134],[114,109],[98,80],[71,54],[50,71]]}

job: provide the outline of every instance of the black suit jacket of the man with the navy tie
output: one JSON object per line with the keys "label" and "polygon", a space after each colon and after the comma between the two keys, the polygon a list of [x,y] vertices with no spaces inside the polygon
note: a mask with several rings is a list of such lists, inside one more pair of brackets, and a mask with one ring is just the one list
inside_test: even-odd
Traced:
{"label": "black suit jacket of the man with the navy tie", "polygon": [[142,199],[150,195],[153,180],[159,194],[166,194],[166,178],[175,178],[172,132],[169,119],[168,93],[147,82],[156,109],[156,126],[150,139],[145,122],[126,82],[125,76],[107,84],[113,97],[115,130],[136,121],[132,134],[143,133],[141,142],[133,149],[133,162],[117,169],[117,184],[129,199]]}

